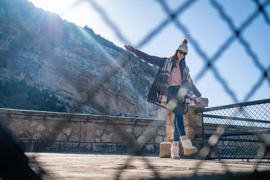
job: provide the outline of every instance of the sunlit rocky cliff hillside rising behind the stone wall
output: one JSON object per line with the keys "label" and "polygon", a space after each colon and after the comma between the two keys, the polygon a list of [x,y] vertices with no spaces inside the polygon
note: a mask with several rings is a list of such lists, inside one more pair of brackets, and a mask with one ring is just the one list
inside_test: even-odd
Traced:
{"label": "sunlit rocky cliff hillside rising behind the stone wall", "polygon": [[145,100],[156,71],[88,27],[27,0],[0,1],[2,83],[46,89],[69,113],[164,119],[164,110]]}

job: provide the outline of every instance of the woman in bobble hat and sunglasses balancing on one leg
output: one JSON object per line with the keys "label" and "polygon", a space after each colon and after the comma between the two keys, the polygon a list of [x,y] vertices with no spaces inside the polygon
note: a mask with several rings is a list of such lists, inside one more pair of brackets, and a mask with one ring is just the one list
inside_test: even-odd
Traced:
{"label": "woman in bobble hat and sunglasses balancing on one leg", "polygon": [[171,158],[179,157],[179,139],[184,147],[184,155],[197,152],[197,148],[192,146],[187,138],[184,128],[183,114],[187,113],[187,104],[194,105],[193,94],[197,97],[196,102],[202,100],[202,95],[195,87],[189,75],[189,69],[185,58],[188,54],[187,39],[183,39],[173,55],[168,58],[159,58],[147,55],[130,45],[124,48],[150,64],[159,67],[153,84],[149,90],[147,100],[171,110],[174,113],[173,143],[171,146]]}

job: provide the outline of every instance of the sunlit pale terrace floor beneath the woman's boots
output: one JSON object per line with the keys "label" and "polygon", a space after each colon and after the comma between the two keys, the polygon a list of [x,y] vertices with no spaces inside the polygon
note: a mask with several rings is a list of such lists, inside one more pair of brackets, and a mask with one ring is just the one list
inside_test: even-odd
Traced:
{"label": "sunlit pale terrace floor beneath the woman's boots", "polygon": [[[147,179],[154,176],[154,171],[146,165],[148,163],[156,170],[160,177],[190,176],[195,166],[202,163],[198,175],[230,172],[252,172],[255,159],[227,159],[227,160],[195,160],[159,158],[158,154],[131,156],[125,154],[64,154],[64,153],[25,153],[34,157],[39,166],[47,173],[43,179]],[[127,169],[122,169],[125,163]],[[33,170],[37,164],[30,164]],[[257,170],[270,170],[270,162],[260,160]]]}

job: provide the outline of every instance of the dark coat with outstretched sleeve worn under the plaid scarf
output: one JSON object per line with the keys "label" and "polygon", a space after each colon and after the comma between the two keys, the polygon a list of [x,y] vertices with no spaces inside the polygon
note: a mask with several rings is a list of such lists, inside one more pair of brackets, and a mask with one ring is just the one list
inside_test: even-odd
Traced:
{"label": "dark coat with outstretched sleeve worn under the plaid scarf", "polygon": [[[146,100],[167,109],[167,107],[161,105],[161,101],[158,100],[158,98],[157,98],[158,82],[159,82],[159,79],[160,79],[160,71],[163,68],[163,65],[164,65],[165,61],[167,60],[167,58],[159,58],[159,57],[156,57],[156,56],[150,56],[147,53],[141,52],[139,50],[135,51],[135,55],[137,57],[147,61],[150,64],[158,66],[158,71],[156,73],[156,76],[155,76],[155,79],[154,79],[154,81],[152,83],[152,86],[150,87],[150,90],[149,90],[149,93],[147,95]],[[192,91],[193,91],[193,94],[196,97],[201,97],[202,96],[202,94],[198,91],[198,89],[195,87],[194,84],[193,84],[193,87],[192,87]]]}

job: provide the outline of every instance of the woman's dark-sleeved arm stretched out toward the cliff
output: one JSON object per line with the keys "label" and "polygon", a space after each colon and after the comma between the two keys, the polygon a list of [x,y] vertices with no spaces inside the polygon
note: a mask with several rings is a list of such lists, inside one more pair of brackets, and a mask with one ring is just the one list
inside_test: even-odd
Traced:
{"label": "woman's dark-sleeved arm stretched out toward the cliff", "polygon": [[159,57],[156,57],[156,56],[150,56],[147,53],[139,51],[139,50],[133,48],[130,45],[124,45],[124,48],[127,49],[130,52],[135,53],[135,55],[137,57],[139,57],[140,59],[145,60],[148,63],[159,66],[159,67],[162,67],[164,62],[167,59],[167,58],[159,58]]}

